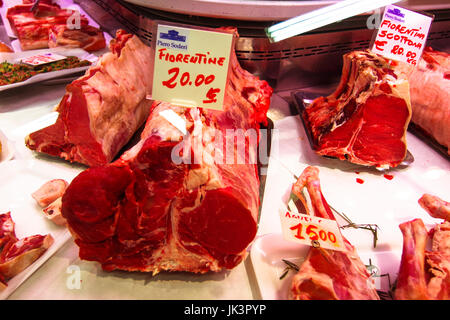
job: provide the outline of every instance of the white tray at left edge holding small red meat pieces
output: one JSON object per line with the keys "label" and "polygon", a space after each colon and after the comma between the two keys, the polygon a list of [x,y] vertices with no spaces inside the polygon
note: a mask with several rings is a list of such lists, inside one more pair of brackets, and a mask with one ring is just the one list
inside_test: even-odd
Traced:
{"label": "white tray at left edge holding small red meat pieces", "polygon": [[38,260],[8,281],[8,287],[0,292],[0,299],[6,299],[71,238],[65,227],[57,226],[44,217],[42,208],[31,193],[51,179],[71,182],[80,171],[69,164],[39,160],[11,160],[0,164],[0,213],[11,212],[17,238],[51,234],[55,240]]}

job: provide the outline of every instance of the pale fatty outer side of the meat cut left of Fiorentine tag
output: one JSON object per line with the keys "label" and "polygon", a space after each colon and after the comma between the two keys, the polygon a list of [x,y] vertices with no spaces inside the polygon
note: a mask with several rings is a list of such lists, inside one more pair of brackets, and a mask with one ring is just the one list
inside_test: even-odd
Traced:
{"label": "pale fatty outer side of the meat cut left of Fiorentine tag", "polygon": [[[137,37],[130,38],[120,57],[116,58],[113,53],[102,56],[96,66],[99,71],[86,80],[87,86],[83,86],[89,100],[90,129],[102,145],[104,154],[111,153],[109,149],[118,139],[117,132],[129,128],[128,135],[132,135],[139,126],[137,121],[148,113],[150,52],[151,49]],[[91,92],[91,88],[95,90]]]}

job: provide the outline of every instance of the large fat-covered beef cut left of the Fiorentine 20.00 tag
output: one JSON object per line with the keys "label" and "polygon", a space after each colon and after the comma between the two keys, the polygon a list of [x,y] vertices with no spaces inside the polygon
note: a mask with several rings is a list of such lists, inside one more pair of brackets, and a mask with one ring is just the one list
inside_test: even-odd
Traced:
{"label": "large fat-covered beef cut left of the Fiorentine 20.00 tag", "polygon": [[118,31],[86,74],[67,86],[56,123],[31,133],[27,146],[88,166],[109,163],[144,124],[151,106],[152,51]]}

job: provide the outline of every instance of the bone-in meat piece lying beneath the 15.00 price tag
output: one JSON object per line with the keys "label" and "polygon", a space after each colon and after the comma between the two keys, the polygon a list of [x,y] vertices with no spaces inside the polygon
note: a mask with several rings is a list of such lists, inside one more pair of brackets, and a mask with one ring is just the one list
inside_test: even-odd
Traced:
{"label": "bone-in meat piece lying beneath the 15.00 price tag", "polygon": [[[307,167],[292,187],[294,194],[306,203],[306,187],[314,215],[335,219],[323,197],[319,169]],[[311,247],[308,256],[294,276],[290,298],[295,300],[379,300],[374,281],[355,248],[344,238],[346,251]]]}

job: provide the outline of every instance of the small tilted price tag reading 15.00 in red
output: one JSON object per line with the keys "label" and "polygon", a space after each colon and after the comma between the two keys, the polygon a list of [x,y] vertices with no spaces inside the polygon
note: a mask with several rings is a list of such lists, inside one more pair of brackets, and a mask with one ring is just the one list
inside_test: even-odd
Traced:
{"label": "small tilted price tag reading 15.00 in red", "polygon": [[335,220],[307,214],[280,211],[284,239],[310,246],[345,251],[345,244]]}

